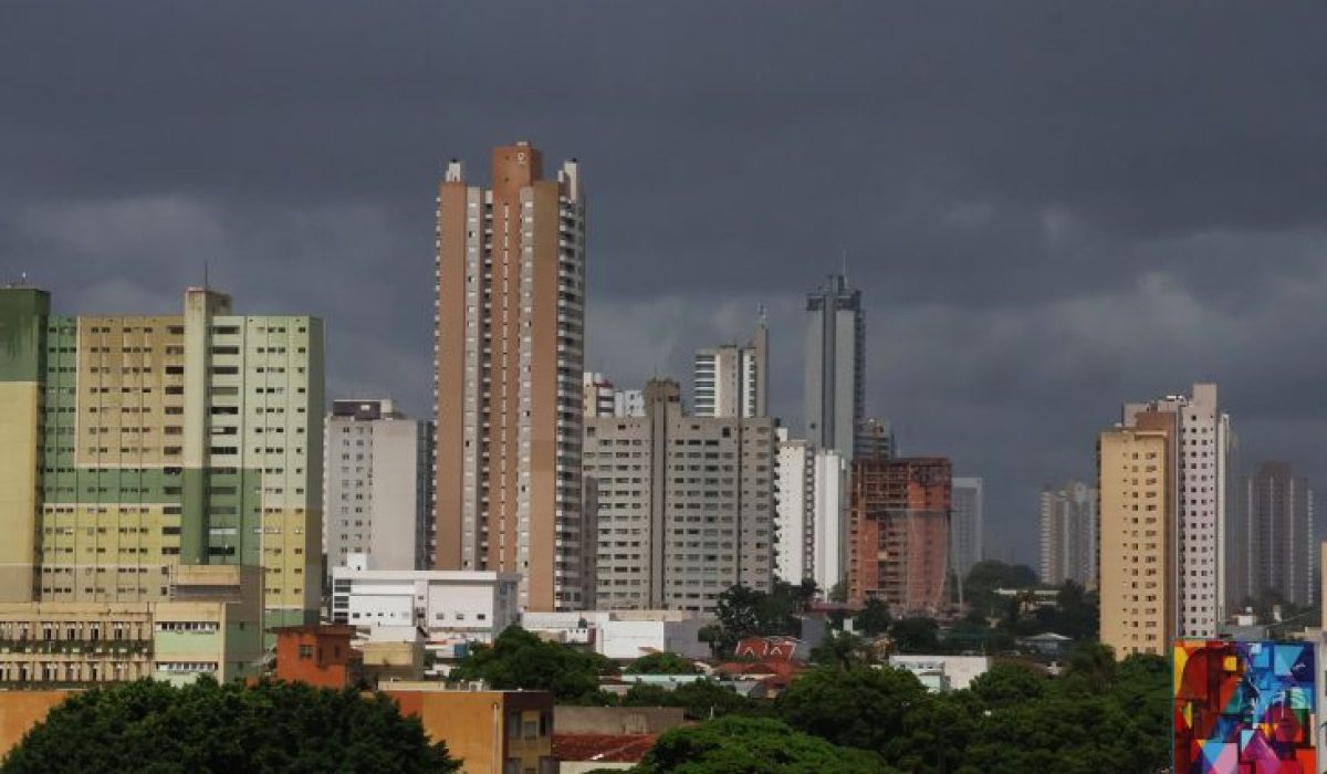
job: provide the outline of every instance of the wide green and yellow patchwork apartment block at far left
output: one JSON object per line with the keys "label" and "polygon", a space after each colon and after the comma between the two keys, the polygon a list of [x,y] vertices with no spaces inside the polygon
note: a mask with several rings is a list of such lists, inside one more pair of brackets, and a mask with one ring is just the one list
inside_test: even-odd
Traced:
{"label": "wide green and yellow patchwork apartment block at far left", "polygon": [[0,601],[169,599],[184,564],[261,567],[263,625],[317,620],[322,324],[56,316],[0,288]]}

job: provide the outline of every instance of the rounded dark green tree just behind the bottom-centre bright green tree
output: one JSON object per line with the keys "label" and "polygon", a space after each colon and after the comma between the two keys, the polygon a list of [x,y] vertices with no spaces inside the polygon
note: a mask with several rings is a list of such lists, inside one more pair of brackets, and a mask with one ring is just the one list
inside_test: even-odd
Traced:
{"label": "rounded dark green tree just behind the bottom-centre bright green tree", "polygon": [[[926,689],[901,669],[813,669],[788,686],[775,712],[792,728],[836,745],[889,751]],[[888,758],[888,755],[886,755]]]}

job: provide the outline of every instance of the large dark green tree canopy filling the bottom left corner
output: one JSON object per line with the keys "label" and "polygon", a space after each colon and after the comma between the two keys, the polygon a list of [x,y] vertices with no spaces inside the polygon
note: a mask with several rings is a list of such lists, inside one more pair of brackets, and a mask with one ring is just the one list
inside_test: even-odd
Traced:
{"label": "large dark green tree canopy filling the bottom left corner", "polygon": [[304,684],[175,688],[143,680],[72,696],[4,759],[15,774],[64,771],[456,771],[443,743],[384,694]]}

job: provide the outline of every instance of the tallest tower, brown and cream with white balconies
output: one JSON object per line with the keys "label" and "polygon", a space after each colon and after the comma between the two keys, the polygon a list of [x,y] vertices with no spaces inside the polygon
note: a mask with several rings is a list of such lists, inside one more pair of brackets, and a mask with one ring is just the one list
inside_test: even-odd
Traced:
{"label": "tallest tower, brown and cream with white balconies", "polygon": [[522,575],[531,611],[585,604],[581,380],[585,196],[528,142],[490,189],[460,162],[438,190],[437,567]]}

